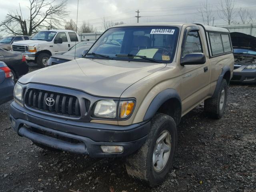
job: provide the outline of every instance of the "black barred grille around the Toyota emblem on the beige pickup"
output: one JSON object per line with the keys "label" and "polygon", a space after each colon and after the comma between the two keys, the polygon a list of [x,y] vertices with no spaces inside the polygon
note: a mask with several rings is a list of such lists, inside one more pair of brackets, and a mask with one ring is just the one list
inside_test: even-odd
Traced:
{"label": "black barred grille around the Toyota emblem on the beige pickup", "polygon": [[[25,104],[31,108],[67,116],[81,115],[78,98],[75,96],[45,90],[29,89],[24,97]],[[47,98],[54,99],[53,106],[46,104]]]}

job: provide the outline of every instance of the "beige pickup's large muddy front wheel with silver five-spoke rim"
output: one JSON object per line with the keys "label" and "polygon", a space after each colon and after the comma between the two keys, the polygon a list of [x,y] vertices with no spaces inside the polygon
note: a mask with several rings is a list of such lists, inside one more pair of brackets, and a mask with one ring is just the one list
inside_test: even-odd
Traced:
{"label": "beige pickup's large muddy front wheel with silver five-spoke rim", "polygon": [[177,129],[172,117],[157,113],[144,145],[126,160],[129,176],[155,187],[164,181],[177,146]]}

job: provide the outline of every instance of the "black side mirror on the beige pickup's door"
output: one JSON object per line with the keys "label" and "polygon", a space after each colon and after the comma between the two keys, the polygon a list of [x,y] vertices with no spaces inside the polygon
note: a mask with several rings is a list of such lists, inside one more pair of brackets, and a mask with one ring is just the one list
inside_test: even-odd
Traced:
{"label": "black side mirror on the beige pickup's door", "polygon": [[191,53],[186,54],[184,57],[180,59],[180,65],[199,65],[205,64],[206,57],[203,53]]}

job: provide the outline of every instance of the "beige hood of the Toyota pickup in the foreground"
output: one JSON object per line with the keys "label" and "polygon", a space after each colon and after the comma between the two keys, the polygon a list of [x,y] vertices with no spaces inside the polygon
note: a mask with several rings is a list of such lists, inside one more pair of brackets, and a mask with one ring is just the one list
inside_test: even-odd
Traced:
{"label": "beige hood of the Toyota pickup in the foreground", "polygon": [[18,81],[50,84],[82,90],[89,94],[120,97],[140,79],[164,68],[166,64],[80,58],[36,70]]}

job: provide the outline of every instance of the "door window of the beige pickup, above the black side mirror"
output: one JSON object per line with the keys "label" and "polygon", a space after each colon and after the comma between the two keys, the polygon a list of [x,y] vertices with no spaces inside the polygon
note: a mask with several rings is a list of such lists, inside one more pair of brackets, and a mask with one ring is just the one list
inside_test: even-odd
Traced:
{"label": "door window of the beige pickup, above the black side mirror", "polygon": [[186,38],[185,46],[182,51],[182,57],[190,53],[202,53],[202,45],[198,32],[189,32]]}

